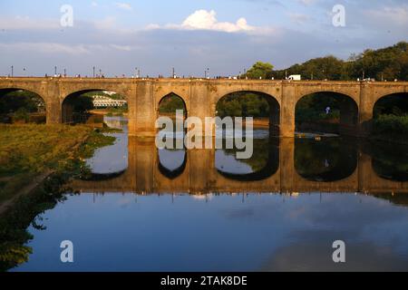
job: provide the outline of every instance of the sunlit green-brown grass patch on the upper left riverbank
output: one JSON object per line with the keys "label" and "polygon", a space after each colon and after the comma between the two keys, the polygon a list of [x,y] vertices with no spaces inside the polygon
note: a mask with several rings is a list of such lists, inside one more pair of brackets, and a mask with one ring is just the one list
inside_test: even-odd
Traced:
{"label": "sunlit green-brown grass patch on the upper left riverbank", "polygon": [[59,169],[92,129],[63,125],[0,125],[0,205],[35,177]]}

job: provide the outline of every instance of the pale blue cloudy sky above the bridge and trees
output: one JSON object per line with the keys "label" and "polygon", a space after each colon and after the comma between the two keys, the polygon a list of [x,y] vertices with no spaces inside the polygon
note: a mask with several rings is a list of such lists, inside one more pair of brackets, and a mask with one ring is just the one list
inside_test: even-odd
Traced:
{"label": "pale blue cloudy sky above the bridge and trees", "polygon": [[[73,7],[73,27],[60,24]],[[332,24],[345,6],[345,27]],[[407,41],[407,0],[13,0],[0,2],[0,75],[230,75]],[[24,70],[25,68],[25,70]]]}

